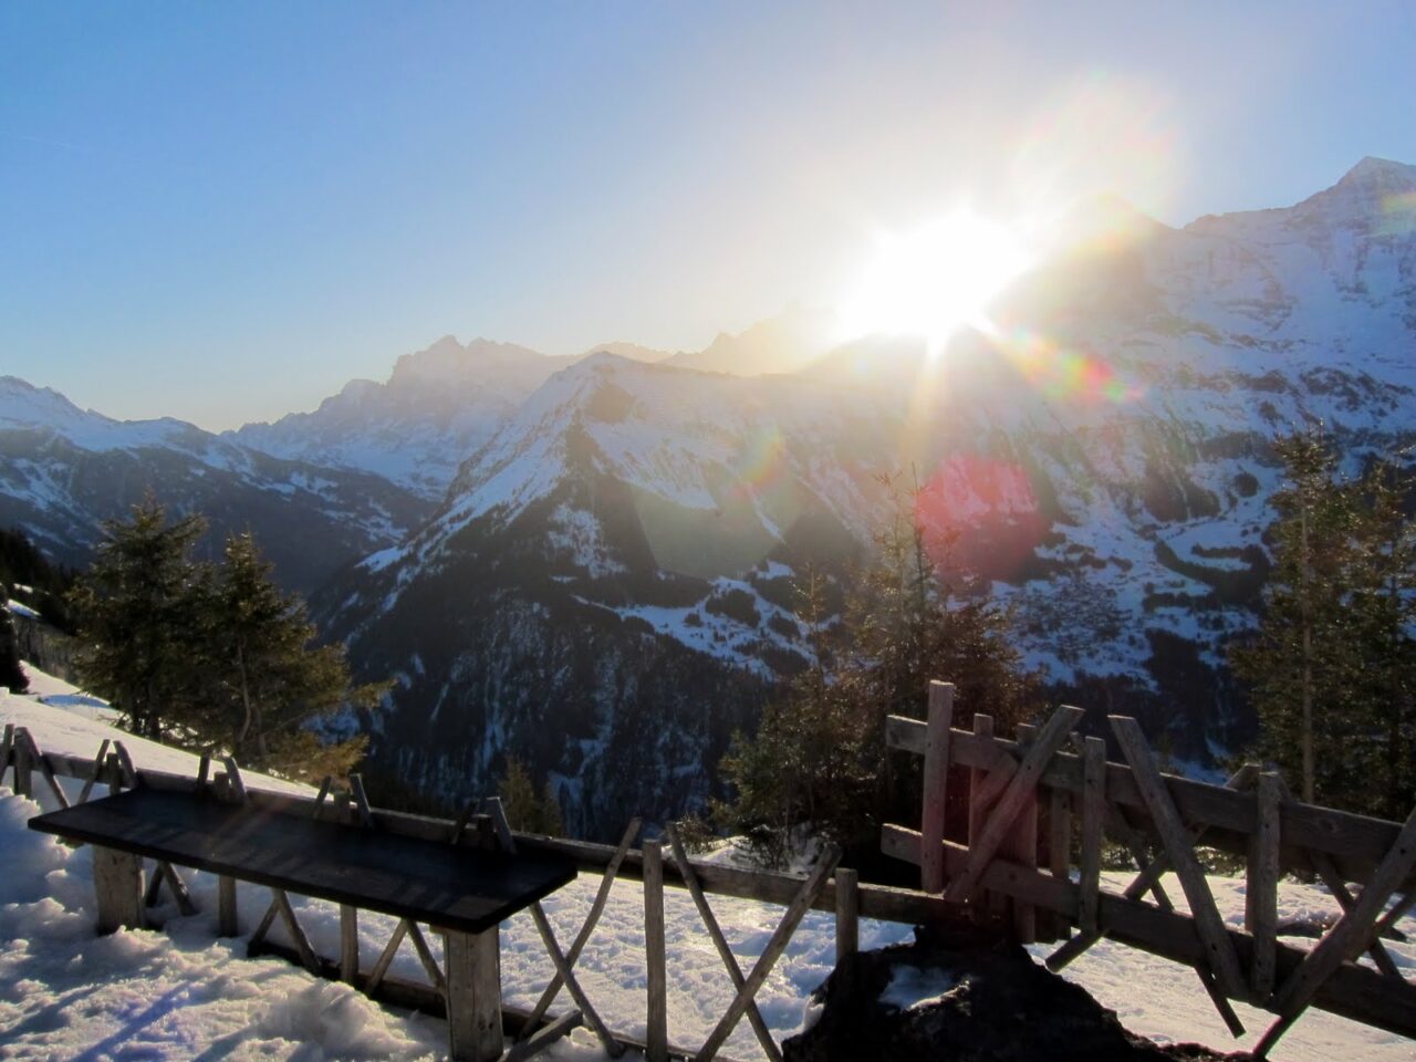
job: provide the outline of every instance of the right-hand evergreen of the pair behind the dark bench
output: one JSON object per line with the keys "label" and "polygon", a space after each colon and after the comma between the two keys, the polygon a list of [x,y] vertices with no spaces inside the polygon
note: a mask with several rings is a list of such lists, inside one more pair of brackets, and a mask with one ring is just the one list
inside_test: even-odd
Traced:
{"label": "right-hand evergreen of the pair behind the dark bench", "polygon": [[382,687],[350,683],[343,646],[316,646],[304,602],[270,578],[251,534],[227,539],[221,568],[198,583],[204,697],[194,722],[208,741],[259,770],[347,775],[365,739],[321,741],[312,729]]}

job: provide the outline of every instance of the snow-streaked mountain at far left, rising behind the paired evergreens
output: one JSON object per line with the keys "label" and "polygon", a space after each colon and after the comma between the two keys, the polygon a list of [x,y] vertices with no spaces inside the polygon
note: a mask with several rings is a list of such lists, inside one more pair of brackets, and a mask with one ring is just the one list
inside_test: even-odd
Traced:
{"label": "snow-streaked mountain at far left, rising behind the paired evergreens", "polygon": [[251,528],[282,582],[306,592],[429,508],[378,476],[270,457],[181,421],[113,421],[0,377],[0,527],[81,566],[102,523],[126,518],[149,489],[178,513],[204,513],[214,549]]}

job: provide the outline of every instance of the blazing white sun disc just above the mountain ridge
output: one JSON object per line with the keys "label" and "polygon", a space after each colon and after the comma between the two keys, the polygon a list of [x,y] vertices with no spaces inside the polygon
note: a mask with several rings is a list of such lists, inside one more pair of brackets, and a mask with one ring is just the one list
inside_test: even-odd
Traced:
{"label": "blazing white sun disc just above the mountain ridge", "polygon": [[937,350],[964,326],[987,329],[988,303],[1031,265],[1012,229],[954,211],[882,236],[841,321],[851,336],[923,336]]}

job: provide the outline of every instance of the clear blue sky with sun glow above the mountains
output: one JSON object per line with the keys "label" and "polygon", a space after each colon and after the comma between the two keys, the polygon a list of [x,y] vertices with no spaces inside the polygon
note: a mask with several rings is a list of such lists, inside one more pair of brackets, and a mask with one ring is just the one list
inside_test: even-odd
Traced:
{"label": "clear blue sky with sun glow above the mountains", "polygon": [[0,375],[218,430],[447,333],[697,350],[959,204],[1178,225],[1416,163],[1413,40],[1409,0],[0,0]]}

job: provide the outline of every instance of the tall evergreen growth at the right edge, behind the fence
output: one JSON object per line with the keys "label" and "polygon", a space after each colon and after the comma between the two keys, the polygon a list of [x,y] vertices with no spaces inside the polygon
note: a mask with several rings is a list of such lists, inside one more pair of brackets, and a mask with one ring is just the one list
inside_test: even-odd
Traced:
{"label": "tall evergreen growth at the right edge, behind the fence", "polygon": [[[1413,796],[1412,527],[1398,472],[1344,481],[1315,429],[1276,443],[1274,555],[1253,637],[1231,651],[1259,752],[1306,801],[1405,816]],[[1318,752],[1321,750],[1321,756]]]}

